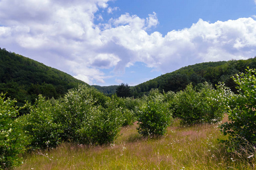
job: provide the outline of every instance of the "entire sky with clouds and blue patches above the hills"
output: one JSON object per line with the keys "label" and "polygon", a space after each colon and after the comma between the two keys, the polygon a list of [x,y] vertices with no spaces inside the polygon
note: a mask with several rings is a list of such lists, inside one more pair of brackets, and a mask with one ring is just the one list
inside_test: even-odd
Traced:
{"label": "entire sky with clouds and blue patches above the hills", "polygon": [[89,84],[134,86],[256,56],[256,0],[0,0],[0,47]]}

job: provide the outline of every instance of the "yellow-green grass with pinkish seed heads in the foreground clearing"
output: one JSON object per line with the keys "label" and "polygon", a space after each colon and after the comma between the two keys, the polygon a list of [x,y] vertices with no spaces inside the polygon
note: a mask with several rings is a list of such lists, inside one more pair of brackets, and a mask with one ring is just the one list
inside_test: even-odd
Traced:
{"label": "yellow-green grass with pinkish seed heads in the foreground clearing", "polygon": [[[255,169],[254,153],[227,152],[218,125],[183,127],[179,120],[159,139],[141,137],[137,124],[108,146],[63,143],[27,154],[16,169]],[[251,156],[253,155],[253,156]],[[247,158],[249,157],[249,158]]]}

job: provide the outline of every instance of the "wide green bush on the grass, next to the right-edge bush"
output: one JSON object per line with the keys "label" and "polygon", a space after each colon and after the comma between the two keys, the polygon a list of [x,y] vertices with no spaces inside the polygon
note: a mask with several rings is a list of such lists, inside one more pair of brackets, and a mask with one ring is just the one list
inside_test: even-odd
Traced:
{"label": "wide green bush on the grass, next to the right-edge bush", "polygon": [[184,91],[175,95],[174,115],[181,118],[181,123],[193,125],[200,123],[215,123],[221,121],[225,105],[224,91],[214,90],[208,83],[204,83],[196,91],[192,84],[189,84]]}

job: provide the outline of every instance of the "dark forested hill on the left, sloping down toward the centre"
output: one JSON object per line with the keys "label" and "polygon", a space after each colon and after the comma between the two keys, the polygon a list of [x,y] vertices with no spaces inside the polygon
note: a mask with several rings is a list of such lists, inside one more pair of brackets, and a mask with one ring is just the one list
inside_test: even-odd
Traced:
{"label": "dark forested hill on the left, sloping down toward the centre", "polygon": [[[0,48],[0,93],[18,100],[35,101],[39,94],[55,99],[68,89],[86,84],[63,71]],[[89,86],[89,85],[88,85]]]}

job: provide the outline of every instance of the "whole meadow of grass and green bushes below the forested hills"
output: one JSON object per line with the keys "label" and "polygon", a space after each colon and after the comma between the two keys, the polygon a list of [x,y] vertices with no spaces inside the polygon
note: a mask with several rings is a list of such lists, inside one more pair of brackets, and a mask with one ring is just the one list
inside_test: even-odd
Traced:
{"label": "whole meadow of grass and green bushes below the forested hills", "polygon": [[[139,99],[80,85],[15,106],[0,94],[0,169],[255,169],[255,69]],[[20,109],[30,114],[18,116]]]}

